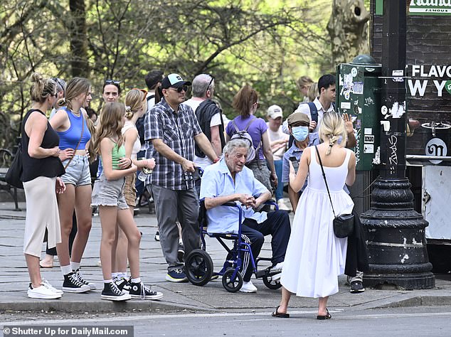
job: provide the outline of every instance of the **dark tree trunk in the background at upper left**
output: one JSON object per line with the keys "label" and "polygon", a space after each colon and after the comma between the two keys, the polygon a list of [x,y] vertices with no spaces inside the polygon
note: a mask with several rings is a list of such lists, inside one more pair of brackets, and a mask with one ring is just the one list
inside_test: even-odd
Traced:
{"label": "dark tree trunk in the background at upper left", "polygon": [[70,65],[73,77],[88,77],[85,0],[70,0]]}

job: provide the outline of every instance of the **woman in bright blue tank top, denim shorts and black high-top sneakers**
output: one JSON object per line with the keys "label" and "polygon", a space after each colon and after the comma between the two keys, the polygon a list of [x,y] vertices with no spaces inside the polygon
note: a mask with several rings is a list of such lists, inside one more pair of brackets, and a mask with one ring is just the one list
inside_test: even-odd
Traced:
{"label": "woman in bright blue tank top, denim shorts and black high-top sneakers", "polygon": [[[91,176],[87,148],[91,134],[87,127],[87,114],[83,105],[90,100],[91,85],[85,78],[75,77],[68,82],[65,99],[60,100],[60,109],[50,123],[60,136],[60,149],[68,157],[63,160],[66,173],[61,177],[66,191],[58,196],[60,211],[61,243],[56,246],[63,291],[80,293],[95,289],[95,285],[83,279],[79,272],[80,261],[85,251],[91,230]],[[69,257],[69,235],[73,225],[73,212],[77,216],[78,232]]]}

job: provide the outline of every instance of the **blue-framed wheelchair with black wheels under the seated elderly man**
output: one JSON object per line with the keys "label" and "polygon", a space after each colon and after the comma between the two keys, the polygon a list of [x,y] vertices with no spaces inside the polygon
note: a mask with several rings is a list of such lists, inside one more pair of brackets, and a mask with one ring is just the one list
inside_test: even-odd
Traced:
{"label": "blue-framed wheelchair with black wheels under the seated elderly man", "polygon": [[[265,205],[275,205],[276,210],[277,203],[274,200],[267,201]],[[218,207],[235,207],[239,210],[238,221],[242,223],[243,220],[243,209],[240,205],[230,202],[224,203]],[[267,206],[265,206],[267,207]],[[280,277],[276,277],[276,279],[272,279],[276,274],[279,274],[280,271],[272,271],[271,266],[262,270],[258,270],[258,264],[261,261],[271,261],[270,258],[259,257],[254,259],[252,250],[250,249],[250,244],[248,242],[244,242],[241,238],[241,225],[238,226],[238,234],[233,233],[208,233],[207,232],[207,217],[206,217],[206,208],[203,200],[201,200],[201,208],[199,211],[199,234],[201,240],[201,249],[193,250],[186,258],[185,258],[185,273],[186,277],[188,277],[189,282],[196,286],[203,286],[210,282],[211,277],[218,276],[222,277],[223,287],[229,292],[236,292],[240,290],[243,286],[243,276],[241,274],[241,269],[243,267],[243,259],[242,256],[244,253],[248,253],[250,256],[250,263],[252,263],[253,272],[256,278],[262,278],[263,283],[269,289],[279,289],[282,287],[279,279]],[[226,249],[228,252],[226,261],[223,264],[222,269],[219,272],[213,272],[213,261],[211,260],[210,255],[206,252],[206,241],[205,235],[208,237],[215,237],[219,243]],[[233,245],[229,247],[224,240],[232,240]]]}

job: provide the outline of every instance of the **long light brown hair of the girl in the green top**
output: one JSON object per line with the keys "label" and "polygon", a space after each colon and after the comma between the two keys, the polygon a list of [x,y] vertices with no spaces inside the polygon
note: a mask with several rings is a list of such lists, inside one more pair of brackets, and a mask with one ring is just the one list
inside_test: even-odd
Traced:
{"label": "long light brown hair of the girl in the green top", "polygon": [[100,141],[104,138],[117,139],[117,146],[121,146],[124,139],[122,138],[122,127],[124,123],[122,119],[125,114],[124,103],[107,102],[100,113],[100,124],[97,127],[94,151],[100,154]]}

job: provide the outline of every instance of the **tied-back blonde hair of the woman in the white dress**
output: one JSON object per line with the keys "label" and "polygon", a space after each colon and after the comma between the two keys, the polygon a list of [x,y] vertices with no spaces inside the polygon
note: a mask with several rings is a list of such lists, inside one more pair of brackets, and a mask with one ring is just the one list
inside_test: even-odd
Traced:
{"label": "tied-back blonde hair of the woman in the white dress", "polygon": [[319,138],[324,142],[329,140],[329,149],[327,149],[326,155],[331,153],[332,146],[341,137],[340,147],[344,147],[348,135],[344,128],[343,118],[336,112],[327,112],[324,114],[319,125]]}

